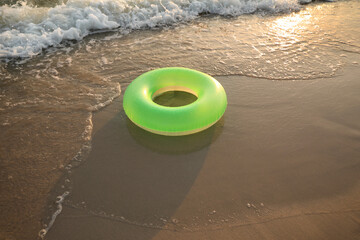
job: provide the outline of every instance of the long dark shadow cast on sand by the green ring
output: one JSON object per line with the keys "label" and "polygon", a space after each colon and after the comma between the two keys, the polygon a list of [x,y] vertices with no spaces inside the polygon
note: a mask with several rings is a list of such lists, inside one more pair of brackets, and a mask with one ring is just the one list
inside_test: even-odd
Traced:
{"label": "long dark shadow cast on sand by the green ring", "polygon": [[[172,222],[223,124],[168,137],[140,129],[122,110],[96,132],[86,162],[72,176],[71,204],[64,204],[47,239],[151,239]],[[81,209],[71,206],[81,203]]]}

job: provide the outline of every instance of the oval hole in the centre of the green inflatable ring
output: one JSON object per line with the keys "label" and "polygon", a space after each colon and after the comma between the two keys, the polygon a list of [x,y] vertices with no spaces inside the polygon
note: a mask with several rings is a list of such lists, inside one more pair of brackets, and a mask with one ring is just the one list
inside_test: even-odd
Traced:
{"label": "oval hole in the centre of the green inflatable ring", "polygon": [[195,102],[198,97],[191,89],[163,88],[156,91],[152,96],[153,102],[166,107],[180,107]]}

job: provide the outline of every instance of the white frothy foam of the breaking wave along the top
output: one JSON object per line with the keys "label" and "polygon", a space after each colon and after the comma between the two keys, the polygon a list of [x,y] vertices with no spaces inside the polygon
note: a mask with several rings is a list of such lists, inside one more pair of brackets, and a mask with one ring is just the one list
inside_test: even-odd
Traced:
{"label": "white frothy foam of the breaking wave along the top", "polygon": [[29,57],[92,31],[141,29],[188,21],[201,13],[238,16],[298,10],[297,0],[69,0],[52,8],[0,7],[0,57]]}

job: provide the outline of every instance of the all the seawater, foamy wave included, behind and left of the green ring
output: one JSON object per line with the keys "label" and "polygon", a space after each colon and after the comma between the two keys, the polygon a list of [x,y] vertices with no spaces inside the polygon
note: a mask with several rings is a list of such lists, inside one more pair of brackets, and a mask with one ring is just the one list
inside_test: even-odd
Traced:
{"label": "all the seawater, foamy wave included, behind and left of the green ring", "polygon": [[[327,81],[360,61],[358,1],[164,2],[0,7],[1,179],[14,192],[6,204],[38,213],[29,206],[43,206],[66,164],[91,145],[93,112],[148,70]],[[7,214],[16,229],[23,213]]]}

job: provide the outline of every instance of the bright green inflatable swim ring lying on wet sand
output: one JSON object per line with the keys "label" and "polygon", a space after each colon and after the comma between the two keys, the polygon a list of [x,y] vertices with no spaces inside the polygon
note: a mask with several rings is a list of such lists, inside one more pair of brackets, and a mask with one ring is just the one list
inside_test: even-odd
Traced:
{"label": "bright green inflatable swim ring lying on wet sand", "polygon": [[[185,91],[197,100],[185,106],[167,107],[153,99],[167,91]],[[205,130],[224,114],[224,88],[213,77],[187,68],[160,68],[142,74],[126,89],[124,111],[139,127],[161,135],[180,136]]]}

